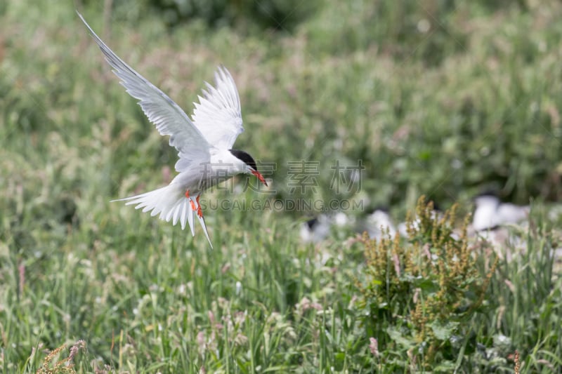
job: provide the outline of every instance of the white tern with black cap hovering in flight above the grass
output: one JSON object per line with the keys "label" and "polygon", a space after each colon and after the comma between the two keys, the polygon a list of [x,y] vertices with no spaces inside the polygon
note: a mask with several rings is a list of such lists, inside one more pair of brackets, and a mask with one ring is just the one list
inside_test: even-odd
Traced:
{"label": "white tern with black cap hovering in flight above the grass", "polygon": [[115,75],[121,79],[126,92],[139,100],[138,105],[160,135],[170,135],[170,145],[178,149],[178,175],[169,185],[114,201],[126,201],[126,205],[135,205],[136,209],[142,208],[152,216],[159,215],[160,219],[174,225],[180,222],[182,229],[187,223],[192,236],[195,236],[197,217],[212,248],[199,203],[201,194],[240,173],[253,174],[267,186],[257,170],[256,161],[247,152],[232,149],[237,136],[244,131],[240,97],[233,77],[226,67],[218,67],[215,86],[206,83],[207,88],[203,90],[203,97],[198,96],[199,102],[194,103],[190,119],[165,93],[117,57],[82,15],[78,15]]}

